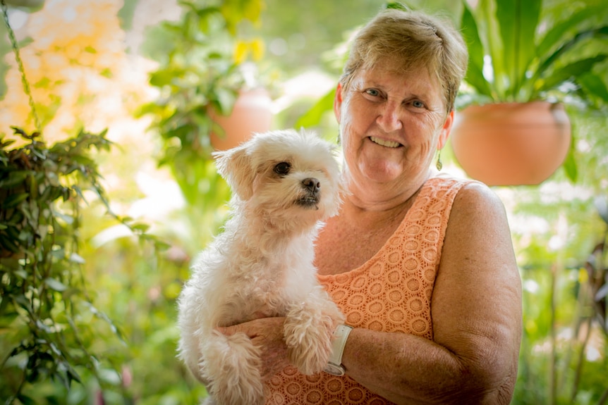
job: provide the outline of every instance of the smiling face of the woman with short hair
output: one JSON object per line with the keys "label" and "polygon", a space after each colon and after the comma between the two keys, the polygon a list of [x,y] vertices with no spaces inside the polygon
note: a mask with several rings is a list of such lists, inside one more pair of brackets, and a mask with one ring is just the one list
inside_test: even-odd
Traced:
{"label": "smiling face of the woman with short hair", "polygon": [[348,175],[358,184],[397,187],[427,176],[454,118],[446,115],[439,82],[424,68],[408,74],[360,70],[348,89],[338,87],[334,112]]}

